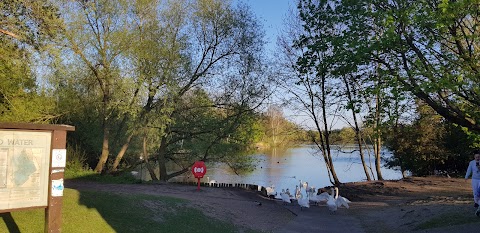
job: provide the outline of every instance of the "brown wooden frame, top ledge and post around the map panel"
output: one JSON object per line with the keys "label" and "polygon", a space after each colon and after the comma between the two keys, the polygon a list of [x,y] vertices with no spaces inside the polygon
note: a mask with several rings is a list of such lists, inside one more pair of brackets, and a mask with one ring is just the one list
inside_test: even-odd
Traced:
{"label": "brown wooden frame, top ledge and post around the map panel", "polygon": [[[65,175],[65,159],[67,131],[75,131],[70,125],[47,125],[30,123],[0,123],[1,130],[27,131],[27,132],[50,132],[51,144],[48,169],[48,198],[47,206],[31,206],[15,209],[0,209],[0,213],[21,211],[35,208],[45,209],[45,232],[61,232],[62,225],[62,202],[63,202],[63,179]],[[54,155],[55,152],[55,155]],[[56,159],[58,161],[56,161]],[[53,167],[54,165],[55,167]],[[54,185],[61,185],[56,189]],[[57,191],[56,191],[57,190]],[[60,192],[61,191],[61,192]],[[60,195],[61,194],[61,195]]]}

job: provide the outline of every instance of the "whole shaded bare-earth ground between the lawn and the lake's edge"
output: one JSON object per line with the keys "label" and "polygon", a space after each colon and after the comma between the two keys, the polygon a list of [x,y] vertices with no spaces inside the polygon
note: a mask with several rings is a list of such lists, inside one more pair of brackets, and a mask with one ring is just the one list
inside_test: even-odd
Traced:
{"label": "whole shaded bare-earth ground between the lawn and the lake's edge", "polygon": [[[191,200],[193,207],[208,216],[232,222],[241,229],[267,232],[300,232],[297,227],[315,232],[341,232],[341,228],[331,228],[344,219],[355,222],[350,232],[356,232],[355,229],[365,232],[477,232],[480,229],[480,218],[474,215],[470,180],[455,178],[415,177],[345,184],[340,187],[340,195],[353,203],[350,209],[339,209],[334,215],[326,211],[324,204],[300,211],[296,204],[285,206],[258,192],[234,188],[202,187],[197,192],[193,186],[165,183],[119,185],[70,180],[66,181],[66,187],[183,198]],[[427,226],[428,230],[422,230],[429,221],[442,227]],[[310,226],[304,224],[307,222]]]}

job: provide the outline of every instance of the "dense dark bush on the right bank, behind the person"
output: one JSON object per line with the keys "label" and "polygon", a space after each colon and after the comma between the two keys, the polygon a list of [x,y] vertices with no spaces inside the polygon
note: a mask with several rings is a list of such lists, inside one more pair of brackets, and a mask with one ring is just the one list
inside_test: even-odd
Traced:
{"label": "dense dark bush on the right bank, behind the person", "polygon": [[463,174],[472,159],[472,140],[458,127],[446,122],[425,104],[411,125],[392,130],[386,144],[393,152],[387,166],[400,166],[413,175]]}

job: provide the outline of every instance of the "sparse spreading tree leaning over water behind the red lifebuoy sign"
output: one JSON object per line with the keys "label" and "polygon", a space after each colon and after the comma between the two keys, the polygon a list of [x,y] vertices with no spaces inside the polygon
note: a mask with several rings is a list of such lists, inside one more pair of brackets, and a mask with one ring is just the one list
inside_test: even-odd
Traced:
{"label": "sparse spreading tree leaning over water behind the red lifebuoy sign", "polygon": [[[149,88],[144,107],[151,109],[150,119],[155,119],[147,120],[145,127],[156,131],[157,146],[152,150],[161,180],[188,171],[195,160],[233,158],[238,152],[218,148],[233,145],[236,130],[265,98],[266,86],[259,82],[263,79],[260,63],[263,34],[249,9],[243,5],[235,8],[222,1],[193,3],[174,4],[175,8],[165,11],[176,16],[173,19],[183,19],[182,24],[173,24],[172,33],[178,34],[166,40],[169,46],[174,46],[166,50],[173,52],[173,56],[163,57],[159,62],[145,59],[145,64],[158,65],[156,72],[159,72],[149,74],[161,80],[152,82],[157,89]],[[175,11],[178,9],[185,12]],[[208,98],[202,91],[208,91]],[[202,99],[208,101],[191,106]],[[200,110],[209,114],[196,112]],[[200,118],[187,120],[192,116]],[[184,125],[185,122],[197,124]],[[176,146],[180,141],[183,149]],[[190,141],[195,146],[186,150]],[[179,169],[168,173],[168,161],[175,162]],[[239,163],[230,164],[233,167]]]}

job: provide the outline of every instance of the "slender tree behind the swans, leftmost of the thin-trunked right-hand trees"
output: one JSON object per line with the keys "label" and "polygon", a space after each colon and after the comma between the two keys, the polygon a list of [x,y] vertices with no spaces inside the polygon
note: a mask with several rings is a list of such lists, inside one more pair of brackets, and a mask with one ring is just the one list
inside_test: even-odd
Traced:
{"label": "slender tree behind the swans, leftmost of the thin-trunked right-hand trees", "polygon": [[[324,14],[309,14],[307,9],[314,7],[311,1],[300,1],[299,14],[294,15],[295,20],[289,21],[289,26],[284,36],[279,39],[279,46],[282,51],[282,70],[290,73],[280,74],[285,77],[278,80],[280,85],[292,97],[288,100],[294,102],[301,112],[308,115],[314,125],[316,134],[311,135],[311,140],[322,152],[327,167],[330,182],[340,184],[331,157],[330,132],[331,121],[336,117],[338,107],[334,103],[338,101],[333,95],[336,83],[331,82],[332,63],[329,62],[332,53],[328,49],[328,38],[335,31],[334,25],[330,23],[332,9],[328,3],[318,3],[318,9],[324,10]],[[305,11],[304,11],[305,10]],[[309,28],[307,25],[315,25]],[[312,44],[310,38],[318,40]],[[318,47],[316,47],[318,46]],[[313,47],[318,49],[312,49]],[[293,78],[291,77],[294,75]],[[319,138],[315,137],[316,135]]]}

